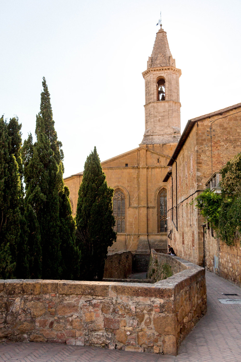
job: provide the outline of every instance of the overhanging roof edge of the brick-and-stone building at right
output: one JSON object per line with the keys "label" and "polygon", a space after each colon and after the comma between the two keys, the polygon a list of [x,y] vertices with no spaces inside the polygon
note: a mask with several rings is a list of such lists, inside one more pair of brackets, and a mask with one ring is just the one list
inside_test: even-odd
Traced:
{"label": "overhanging roof edge of the brick-and-stone building at right", "polygon": [[212,113],[207,113],[207,114],[201,115],[200,117],[189,119],[184,131],[181,134],[181,138],[177,144],[177,147],[175,148],[175,151],[173,152],[171,160],[168,162],[167,165],[171,166],[173,164],[173,162],[176,160],[178,153],[180,152],[180,150],[182,148],[182,145],[185,143],[186,139],[188,138],[189,133],[191,132],[191,130],[193,129],[193,126],[195,125],[195,123],[197,121],[201,121],[201,119],[205,119],[205,118],[211,118],[212,116],[217,115],[217,114],[223,114],[224,112],[227,112],[232,109],[236,109],[238,107],[241,107],[241,103],[234,104],[233,106],[229,106],[227,108],[219,109],[218,111],[215,111]]}

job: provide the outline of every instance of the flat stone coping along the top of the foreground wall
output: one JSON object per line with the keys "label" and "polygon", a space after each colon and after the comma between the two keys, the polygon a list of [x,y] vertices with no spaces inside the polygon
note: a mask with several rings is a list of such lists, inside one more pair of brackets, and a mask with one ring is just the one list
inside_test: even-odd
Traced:
{"label": "flat stone coping along the top of the foreground wall", "polygon": [[[205,269],[177,256],[157,253],[154,249],[151,254],[159,254],[167,258],[169,264],[176,260],[183,269],[177,274],[154,284],[125,283],[125,282],[99,282],[99,281],[73,281],[48,279],[0,279],[0,292],[13,294],[51,294],[64,295],[95,295],[95,296],[142,296],[150,298],[171,298],[187,283],[193,282],[198,275],[205,276]],[[168,261],[169,259],[169,261]]]}

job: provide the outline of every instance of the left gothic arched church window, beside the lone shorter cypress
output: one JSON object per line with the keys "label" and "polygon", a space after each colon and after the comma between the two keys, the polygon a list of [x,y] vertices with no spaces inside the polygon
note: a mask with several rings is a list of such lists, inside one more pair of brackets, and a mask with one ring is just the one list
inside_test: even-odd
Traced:
{"label": "left gothic arched church window, beside the lone shorter cypress", "polygon": [[115,232],[125,232],[125,194],[116,190],[113,196],[113,215],[116,220]]}

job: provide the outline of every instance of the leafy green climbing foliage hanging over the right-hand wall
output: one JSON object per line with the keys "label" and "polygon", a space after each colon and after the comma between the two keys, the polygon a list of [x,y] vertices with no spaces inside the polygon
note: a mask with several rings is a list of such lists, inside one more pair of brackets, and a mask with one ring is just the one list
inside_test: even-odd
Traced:
{"label": "leafy green climbing foliage hanging over the right-hand wall", "polygon": [[220,171],[221,194],[203,191],[195,198],[207,222],[227,245],[241,243],[241,153],[227,162]]}

